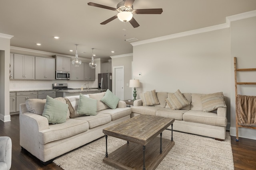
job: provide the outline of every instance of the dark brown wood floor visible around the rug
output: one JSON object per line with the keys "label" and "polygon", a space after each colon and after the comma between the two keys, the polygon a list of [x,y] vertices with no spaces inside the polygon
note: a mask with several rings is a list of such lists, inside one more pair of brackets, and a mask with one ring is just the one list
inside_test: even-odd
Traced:
{"label": "dark brown wood floor visible around the rug", "polygon": [[[12,139],[12,167],[11,170],[62,170],[51,163],[46,166],[21,150],[19,133],[19,115],[11,115],[10,122],[0,121],[0,136]],[[231,137],[235,170],[256,170],[256,140]]]}

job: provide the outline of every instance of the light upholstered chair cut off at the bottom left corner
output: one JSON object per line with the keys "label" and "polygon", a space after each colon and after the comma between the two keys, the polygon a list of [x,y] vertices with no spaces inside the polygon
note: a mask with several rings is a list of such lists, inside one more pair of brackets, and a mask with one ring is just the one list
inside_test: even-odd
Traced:
{"label": "light upholstered chair cut off at the bottom left corner", "polygon": [[12,165],[12,140],[10,137],[0,137],[0,169],[10,170]]}

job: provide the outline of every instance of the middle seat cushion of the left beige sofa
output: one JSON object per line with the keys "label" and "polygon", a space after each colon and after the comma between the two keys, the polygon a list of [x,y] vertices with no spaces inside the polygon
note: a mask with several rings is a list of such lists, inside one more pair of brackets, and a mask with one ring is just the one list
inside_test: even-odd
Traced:
{"label": "middle seat cushion of the left beige sofa", "polygon": [[83,120],[83,121],[88,121],[89,123],[89,129],[99,126],[99,125],[104,125],[106,123],[109,123],[111,121],[111,115],[108,114],[103,114],[103,113],[97,113],[94,116],[80,116],[80,117],[75,117],[74,119],[77,120]]}

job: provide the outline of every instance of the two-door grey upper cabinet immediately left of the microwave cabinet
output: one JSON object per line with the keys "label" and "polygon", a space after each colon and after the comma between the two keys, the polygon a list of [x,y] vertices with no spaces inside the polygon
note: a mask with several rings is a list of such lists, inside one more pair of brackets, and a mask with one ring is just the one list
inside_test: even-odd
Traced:
{"label": "two-door grey upper cabinet immediately left of the microwave cabinet", "polygon": [[55,80],[55,59],[36,57],[36,80]]}

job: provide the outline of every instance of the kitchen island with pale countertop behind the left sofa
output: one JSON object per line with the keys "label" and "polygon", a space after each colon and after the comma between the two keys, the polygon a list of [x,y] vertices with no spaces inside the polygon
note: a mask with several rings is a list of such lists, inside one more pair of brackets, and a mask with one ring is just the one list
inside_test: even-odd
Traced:
{"label": "kitchen island with pale countertop behind the left sofa", "polygon": [[79,96],[80,93],[82,94],[93,94],[93,93],[100,93],[100,92],[104,92],[106,90],[101,90],[101,89],[94,89],[94,88],[90,88],[89,90],[84,89],[73,89],[73,90],[56,90],[56,98],[58,97],[67,97],[67,96]]}

